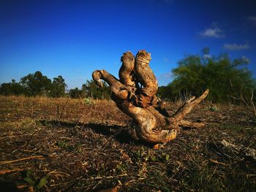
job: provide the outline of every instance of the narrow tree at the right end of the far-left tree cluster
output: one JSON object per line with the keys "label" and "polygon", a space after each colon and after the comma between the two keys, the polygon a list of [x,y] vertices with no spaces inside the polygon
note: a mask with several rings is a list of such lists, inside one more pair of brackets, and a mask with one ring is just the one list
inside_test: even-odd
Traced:
{"label": "narrow tree at the right end of the far-left tree cluster", "polygon": [[54,77],[49,95],[52,97],[64,96],[66,87],[67,84],[65,83],[65,80],[61,75],[59,75],[58,77]]}

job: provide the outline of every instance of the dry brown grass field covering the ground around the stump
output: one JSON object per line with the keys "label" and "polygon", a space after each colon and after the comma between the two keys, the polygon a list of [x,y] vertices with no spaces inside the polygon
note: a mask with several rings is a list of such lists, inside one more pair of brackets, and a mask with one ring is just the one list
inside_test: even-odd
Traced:
{"label": "dry brown grass field covering the ground around the stump", "polygon": [[0,191],[255,191],[252,112],[205,103],[187,118],[207,126],[154,149],[121,131],[132,120],[113,101],[0,96]]}

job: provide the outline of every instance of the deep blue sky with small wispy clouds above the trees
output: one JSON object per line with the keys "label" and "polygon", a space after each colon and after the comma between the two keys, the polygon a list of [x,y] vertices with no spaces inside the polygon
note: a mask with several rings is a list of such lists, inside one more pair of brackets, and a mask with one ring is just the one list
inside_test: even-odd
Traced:
{"label": "deep blue sky with small wispy clouds above the trees", "polygon": [[80,88],[95,69],[118,77],[122,53],[151,53],[159,85],[186,54],[249,59],[256,76],[256,1],[0,1],[0,83],[41,71]]}

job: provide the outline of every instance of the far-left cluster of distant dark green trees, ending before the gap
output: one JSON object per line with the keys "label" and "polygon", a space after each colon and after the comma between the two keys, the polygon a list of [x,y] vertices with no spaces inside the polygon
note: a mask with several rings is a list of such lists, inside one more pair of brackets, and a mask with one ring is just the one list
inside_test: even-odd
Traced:
{"label": "far-left cluster of distant dark green trees, ending before the gap", "polygon": [[42,72],[28,74],[20,79],[20,82],[2,83],[0,94],[4,96],[25,95],[25,96],[64,96],[67,87],[64,78],[54,77],[53,82],[48,77],[42,75]]}

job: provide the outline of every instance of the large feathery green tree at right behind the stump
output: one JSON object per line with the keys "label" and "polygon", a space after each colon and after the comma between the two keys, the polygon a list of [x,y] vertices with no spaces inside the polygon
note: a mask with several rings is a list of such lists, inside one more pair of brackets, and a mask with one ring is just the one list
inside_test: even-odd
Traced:
{"label": "large feathery green tree at right behind the stump", "polygon": [[173,82],[159,87],[158,93],[164,99],[175,99],[188,93],[200,96],[209,88],[208,99],[214,102],[230,101],[232,96],[249,97],[256,83],[247,64],[246,59],[232,61],[227,54],[210,56],[206,47],[203,55],[187,55],[178,61],[178,67],[172,71]]}

